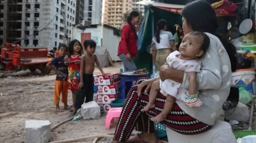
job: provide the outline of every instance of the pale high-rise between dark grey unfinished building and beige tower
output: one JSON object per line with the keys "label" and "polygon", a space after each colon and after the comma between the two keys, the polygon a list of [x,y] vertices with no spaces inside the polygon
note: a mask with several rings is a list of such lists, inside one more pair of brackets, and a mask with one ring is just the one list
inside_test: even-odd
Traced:
{"label": "pale high-rise between dark grey unfinished building and beige tower", "polygon": [[76,0],[76,24],[83,20],[101,24],[102,0]]}

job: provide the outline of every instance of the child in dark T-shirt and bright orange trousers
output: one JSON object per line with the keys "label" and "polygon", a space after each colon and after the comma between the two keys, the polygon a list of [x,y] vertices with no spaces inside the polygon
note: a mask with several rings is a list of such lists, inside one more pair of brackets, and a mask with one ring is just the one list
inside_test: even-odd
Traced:
{"label": "child in dark T-shirt and bright orange trousers", "polygon": [[63,111],[60,109],[59,101],[60,94],[62,94],[62,103],[64,103],[64,109],[68,108],[67,105],[67,65],[64,63],[64,57],[66,56],[67,45],[59,44],[58,52],[59,56],[52,59],[47,63],[47,67],[56,72],[55,88],[54,88],[54,104],[56,111]]}

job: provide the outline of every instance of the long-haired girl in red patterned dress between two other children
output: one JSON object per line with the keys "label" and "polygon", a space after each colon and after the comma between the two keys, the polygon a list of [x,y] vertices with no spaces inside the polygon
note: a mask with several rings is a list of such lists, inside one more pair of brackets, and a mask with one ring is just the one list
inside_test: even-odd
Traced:
{"label": "long-haired girl in red patterned dress between two other children", "polygon": [[74,102],[76,100],[76,90],[80,80],[80,61],[82,44],[74,39],[69,43],[69,59],[65,62],[68,65],[68,89],[72,92],[73,104],[69,107],[69,111],[74,110]]}

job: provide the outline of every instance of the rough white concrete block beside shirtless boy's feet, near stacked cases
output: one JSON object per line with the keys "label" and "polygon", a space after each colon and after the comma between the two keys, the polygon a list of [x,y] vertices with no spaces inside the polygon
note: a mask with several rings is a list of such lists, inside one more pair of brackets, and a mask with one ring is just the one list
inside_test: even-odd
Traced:
{"label": "rough white concrete block beside shirtless boy's feet, near stacked cases", "polygon": [[100,117],[100,106],[97,102],[91,101],[81,106],[83,119],[95,119]]}

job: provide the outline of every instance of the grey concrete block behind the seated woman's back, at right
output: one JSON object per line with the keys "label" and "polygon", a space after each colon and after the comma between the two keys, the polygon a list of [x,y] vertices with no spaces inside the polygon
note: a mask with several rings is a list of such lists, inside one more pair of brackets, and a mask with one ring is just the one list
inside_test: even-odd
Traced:
{"label": "grey concrete block behind the seated woman's back, at right", "polygon": [[236,108],[225,110],[225,118],[243,122],[248,121],[250,118],[249,109],[245,104],[239,102]]}

